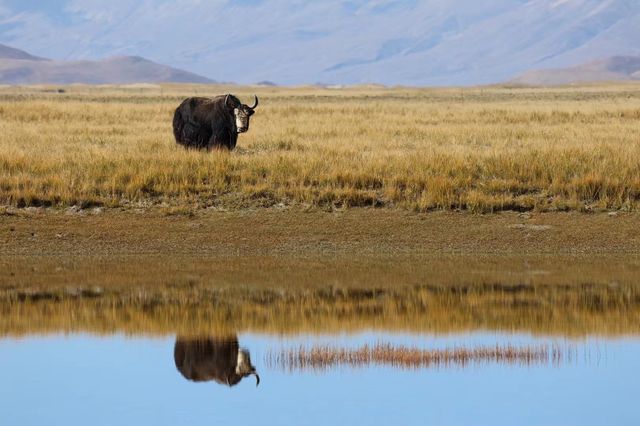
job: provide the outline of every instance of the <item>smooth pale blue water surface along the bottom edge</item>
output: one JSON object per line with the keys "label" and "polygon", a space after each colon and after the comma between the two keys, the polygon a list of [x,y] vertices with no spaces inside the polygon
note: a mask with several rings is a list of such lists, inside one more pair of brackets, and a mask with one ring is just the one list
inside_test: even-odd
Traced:
{"label": "smooth pale blue water surface along the bottom edge", "polygon": [[[34,336],[0,340],[0,425],[639,425],[640,339],[447,337],[366,333],[241,334],[261,383],[186,380],[175,338]],[[411,347],[569,344],[559,365],[472,365],[402,370],[346,366],[323,372],[269,367],[270,350],[300,345]]]}

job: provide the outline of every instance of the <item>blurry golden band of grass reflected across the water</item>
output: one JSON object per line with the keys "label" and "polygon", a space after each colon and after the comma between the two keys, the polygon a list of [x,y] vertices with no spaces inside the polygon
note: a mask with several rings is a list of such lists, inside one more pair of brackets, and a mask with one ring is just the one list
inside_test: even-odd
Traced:
{"label": "blurry golden band of grass reflected across the water", "polygon": [[635,285],[60,288],[0,292],[0,334],[357,331],[640,333]]}

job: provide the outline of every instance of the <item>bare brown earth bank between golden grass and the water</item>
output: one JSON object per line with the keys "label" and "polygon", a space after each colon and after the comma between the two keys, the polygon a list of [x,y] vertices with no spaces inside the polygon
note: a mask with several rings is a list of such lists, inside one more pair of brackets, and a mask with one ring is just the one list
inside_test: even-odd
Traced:
{"label": "bare brown earth bank between golden grass and the water", "polygon": [[[82,211],[80,211],[82,212]],[[0,215],[0,255],[640,254],[640,214],[390,209]]]}

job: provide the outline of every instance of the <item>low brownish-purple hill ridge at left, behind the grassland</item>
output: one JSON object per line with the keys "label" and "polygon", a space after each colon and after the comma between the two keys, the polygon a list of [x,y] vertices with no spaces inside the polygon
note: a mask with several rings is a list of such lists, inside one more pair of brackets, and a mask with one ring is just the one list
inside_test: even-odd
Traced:
{"label": "low brownish-purple hill ridge at left, behind the grassland", "polygon": [[100,61],[52,61],[0,45],[0,83],[213,83],[213,80],[139,56],[118,56]]}

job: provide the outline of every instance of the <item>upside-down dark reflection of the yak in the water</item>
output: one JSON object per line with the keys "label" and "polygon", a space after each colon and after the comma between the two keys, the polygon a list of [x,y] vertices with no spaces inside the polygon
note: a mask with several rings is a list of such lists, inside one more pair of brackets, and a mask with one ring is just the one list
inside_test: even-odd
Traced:
{"label": "upside-down dark reflection of the yak in the water", "polygon": [[194,382],[214,380],[234,386],[247,376],[260,376],[251,365],[249,351],[241,349],[237,336],[218,338],[178,337],[173,350],[176,368],[185,379]]}

